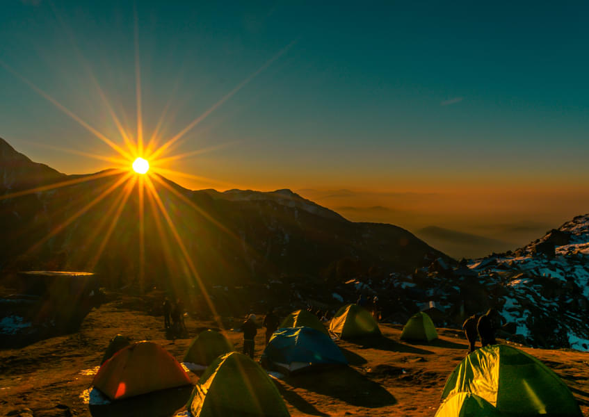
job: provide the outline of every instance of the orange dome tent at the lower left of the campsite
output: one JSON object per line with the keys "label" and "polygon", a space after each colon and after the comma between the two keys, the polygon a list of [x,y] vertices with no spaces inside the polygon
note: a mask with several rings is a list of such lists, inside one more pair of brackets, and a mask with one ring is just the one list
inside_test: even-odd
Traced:
{"label": "orange dome tent at the lower left of the campsite", "polygon": [[104,362],[92,384],[111,400],[191,384],[178,361],[160,345],[139,342]]}

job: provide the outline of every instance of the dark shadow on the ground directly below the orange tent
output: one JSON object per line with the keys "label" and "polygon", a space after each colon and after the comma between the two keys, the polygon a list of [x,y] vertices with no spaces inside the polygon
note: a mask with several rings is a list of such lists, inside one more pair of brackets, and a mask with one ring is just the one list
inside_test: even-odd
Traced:
{"label": "dark shadow on the ground directly below the orange tent", "polygon": [[113,401],[111,404],[90,405],[90,414],[93,417],[170,417],[186,405],[192,390],[193,386],[186,385],[139,395],[127,400]]}

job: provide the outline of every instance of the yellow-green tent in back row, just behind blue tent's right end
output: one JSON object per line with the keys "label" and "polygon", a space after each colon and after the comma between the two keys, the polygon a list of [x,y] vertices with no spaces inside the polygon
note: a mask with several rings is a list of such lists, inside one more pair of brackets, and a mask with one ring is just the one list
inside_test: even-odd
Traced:
{"label": "yellow-green tent in back row, just behind blue tent's right end", "polygon": [[341,307],[330,322],[330,331],[340,338],[380,335],[372,314],[356,304]]}

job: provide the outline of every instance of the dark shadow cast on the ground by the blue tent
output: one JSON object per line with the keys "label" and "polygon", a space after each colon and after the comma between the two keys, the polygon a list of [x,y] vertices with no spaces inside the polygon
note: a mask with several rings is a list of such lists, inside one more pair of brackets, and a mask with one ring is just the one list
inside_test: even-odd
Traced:
{"label": "dark shadow cast on the ground by the blue tent", "polygon": [[357,407],[378,408],[396,404],[396,399],[382,385],[349,367],[323,373],[293,375],[284,379],[293,388],[302,388],[337,398]]}

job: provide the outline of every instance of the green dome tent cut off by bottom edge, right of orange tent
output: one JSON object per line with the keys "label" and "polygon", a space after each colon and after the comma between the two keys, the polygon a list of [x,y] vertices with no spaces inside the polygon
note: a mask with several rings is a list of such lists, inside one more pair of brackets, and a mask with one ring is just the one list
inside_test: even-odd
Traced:
{"label": "green dome tent cut off by bottom edge, right of orange tent", "polygon": [[204,371],[186,404],[193,417],[288,417],[278,389],[250,357],[231,352]]}

